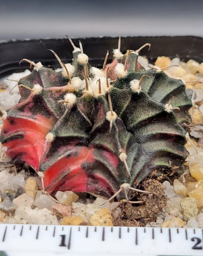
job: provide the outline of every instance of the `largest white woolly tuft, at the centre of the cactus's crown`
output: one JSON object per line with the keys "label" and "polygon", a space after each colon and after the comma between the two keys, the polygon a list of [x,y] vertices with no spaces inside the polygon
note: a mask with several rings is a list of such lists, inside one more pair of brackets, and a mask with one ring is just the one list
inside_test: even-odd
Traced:
{"label": "largest white woolly tuft, at the centre of the cactus's crown", "polygon": [[[100,82],[101,82],[101,93],[99,93],[98,79],[100,79]],[[106,78],[104,76],[95,76],[94,79],[92,79],[91,81],[88,81],[89,91],[86,91],[86,92],[92,94],[95,97],[104,95],[106,91],[108,91],[111,88],[110,86],[111,79],[108,78],[108,81],[109,81],[109,87],[107,87]]]}

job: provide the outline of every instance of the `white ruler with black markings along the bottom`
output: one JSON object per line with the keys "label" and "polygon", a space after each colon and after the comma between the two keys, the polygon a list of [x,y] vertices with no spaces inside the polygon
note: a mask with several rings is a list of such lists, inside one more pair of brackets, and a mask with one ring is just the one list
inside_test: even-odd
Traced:
{"label": "white ruler with black markings along the bottom", "polygon": [[203,256],[203,229],[0,224],[0,256]]}

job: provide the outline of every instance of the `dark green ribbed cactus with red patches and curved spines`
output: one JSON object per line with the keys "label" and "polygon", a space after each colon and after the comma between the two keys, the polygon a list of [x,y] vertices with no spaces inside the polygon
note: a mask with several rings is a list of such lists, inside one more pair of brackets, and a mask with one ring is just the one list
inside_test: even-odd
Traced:
{"label": "dark green ribbed cactus with red patches and curved spines", "polygon": [[181,123],[191,107],[182,81],[141,67],[139,51],[149,44],[123,55],[119,42],[112,62],[106,65],[107,53],[97,69],[81,44],[70,42],[72,64],[52,51],[61,72],[29,61],[34,69],[19,81],[21,102],[9,110],[0,136],[7,155],[43,173],[49,193],[119,200],[155,169],[163,175],[176,166],[174,175],[182,174],[187,152]]}

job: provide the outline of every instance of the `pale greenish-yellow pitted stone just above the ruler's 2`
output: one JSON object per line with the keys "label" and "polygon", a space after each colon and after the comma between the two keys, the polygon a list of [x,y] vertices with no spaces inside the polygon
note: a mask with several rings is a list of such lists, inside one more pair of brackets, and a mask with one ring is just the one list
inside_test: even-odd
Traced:
{"label": "pale greenish-yellow pitted stone just above the ruler's 2", "polygon": [[182,198],[182,200],[180,201],[180,206],[183,211],[183,217],[186,221],[188,221],[191,217],[196,218],[198,209],[196,200],[194,198]]}

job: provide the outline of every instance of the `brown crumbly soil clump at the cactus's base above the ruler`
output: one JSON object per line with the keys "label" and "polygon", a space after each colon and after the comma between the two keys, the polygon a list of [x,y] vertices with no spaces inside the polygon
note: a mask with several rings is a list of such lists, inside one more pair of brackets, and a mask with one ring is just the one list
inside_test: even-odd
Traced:
{"label": "brown crumbly soil clump at the cactus's base above the ruler", "polygon": [[145,201],[143,205],[129,204],[123,201],[120,204],[121,214],[116,219],[113,215],[114,226],[136,226],[145,227],[147,223],[156,221],[156,214],[161,212],[166,205],[167,197],[165,196],[164,186],[155,179],[144,180],[139,189],[151,191],[151,194],[134,193],[138,201]]}

